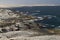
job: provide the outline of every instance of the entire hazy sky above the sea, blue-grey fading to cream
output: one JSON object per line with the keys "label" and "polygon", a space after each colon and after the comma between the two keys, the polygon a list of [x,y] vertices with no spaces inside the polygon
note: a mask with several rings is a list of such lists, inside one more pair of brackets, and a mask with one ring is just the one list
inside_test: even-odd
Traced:
{"label": "entire hazy sky above the sea, blue-grey fading to cream", "polygon": [[0,0],[0,7],[13,6],[55,6],[60,5],[60,0]]}

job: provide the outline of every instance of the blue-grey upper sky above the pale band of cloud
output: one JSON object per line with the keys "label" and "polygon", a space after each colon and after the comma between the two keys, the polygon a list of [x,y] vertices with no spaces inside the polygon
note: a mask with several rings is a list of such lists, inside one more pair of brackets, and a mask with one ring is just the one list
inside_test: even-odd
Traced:
{"label": "blue-grey upper sky above the pale band of cloud", "polygon": [[0,4],[60,4],[60,0],[0,0]]}

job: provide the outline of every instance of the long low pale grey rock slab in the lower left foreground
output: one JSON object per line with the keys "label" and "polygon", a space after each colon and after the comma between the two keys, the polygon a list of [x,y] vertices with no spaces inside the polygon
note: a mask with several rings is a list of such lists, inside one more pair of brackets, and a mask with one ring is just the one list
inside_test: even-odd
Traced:
{"label": "long low pale grey rock slab in the lower left foreground", "polygon": [[7,33],[1,33],[0,35],[5,36],[7,38],[11,38],[18,36],[34,36],[34,35],[39,35],[39,33],[33,31],[11,31]]}

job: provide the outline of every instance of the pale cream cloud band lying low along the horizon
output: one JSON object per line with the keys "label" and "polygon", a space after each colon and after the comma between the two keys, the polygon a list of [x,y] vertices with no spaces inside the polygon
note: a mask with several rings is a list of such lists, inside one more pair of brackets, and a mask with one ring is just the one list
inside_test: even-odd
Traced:
{"label": "pale cream cloud band lying low along the horizon", "polygon": [[0,8],[22,7],[22,6],[60,6],[59,4],[0,4]]}

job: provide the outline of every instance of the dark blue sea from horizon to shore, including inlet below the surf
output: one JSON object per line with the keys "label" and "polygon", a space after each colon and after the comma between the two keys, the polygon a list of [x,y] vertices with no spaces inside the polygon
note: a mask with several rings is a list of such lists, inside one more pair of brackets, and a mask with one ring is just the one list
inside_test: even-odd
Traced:
{"label": "dark blue sea from horizon to shore, including inlet below the surf", "polygon": [[[48,20],[37,21],[44,24],[60,26],[60,6],[33,6],[33,7],[17,7],[10,8],[12,11],[20,11],[20,12],[29,12],[28,15],[32,16],[45,16],[52,15],[56,16]],[[40,11],[40,12],[36,12]]]}

